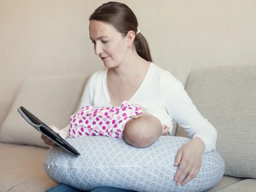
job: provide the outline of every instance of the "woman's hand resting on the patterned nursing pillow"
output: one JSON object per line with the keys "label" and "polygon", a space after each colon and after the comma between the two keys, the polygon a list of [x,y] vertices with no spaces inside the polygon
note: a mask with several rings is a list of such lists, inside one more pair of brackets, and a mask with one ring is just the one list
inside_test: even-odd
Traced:
{"label": "woman's hand resting on the patterned nursing pillow", "polygon": [[195,137],[186,145],[183,145],[175,158],[174,166],[179,166],[175,174],[176,185],[185,185],[189,180],[195,178],[202,165],[203,153],[206,146],[199,137]]}

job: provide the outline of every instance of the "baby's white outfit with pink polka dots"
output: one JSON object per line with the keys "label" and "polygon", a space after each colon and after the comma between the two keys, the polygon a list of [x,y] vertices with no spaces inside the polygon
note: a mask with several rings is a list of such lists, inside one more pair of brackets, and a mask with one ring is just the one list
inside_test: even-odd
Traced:
{"label": "baby's white outfit with pink polka dots", "polygon": [[123,138],[122,131],[131,116],[139,115],[138,105],[123,101],[119,107],[86,106],[71,116],[69,137],[107,136]]}

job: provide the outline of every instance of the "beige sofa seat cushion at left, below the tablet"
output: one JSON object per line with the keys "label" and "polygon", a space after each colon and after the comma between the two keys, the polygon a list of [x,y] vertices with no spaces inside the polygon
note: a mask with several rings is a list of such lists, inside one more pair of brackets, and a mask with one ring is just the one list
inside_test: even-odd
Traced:
{"label": "beige sofa seat cushion at left, below the tablet", "polygon": [[[43,192],[45,187],[49,189],[55,186],[44,171],[43,160],[46,153],[45,148],[0,143],[0,192]],[[34,185],[32,189],[19,190],[19,185],[36,180],[43,180],[45,187]]]}

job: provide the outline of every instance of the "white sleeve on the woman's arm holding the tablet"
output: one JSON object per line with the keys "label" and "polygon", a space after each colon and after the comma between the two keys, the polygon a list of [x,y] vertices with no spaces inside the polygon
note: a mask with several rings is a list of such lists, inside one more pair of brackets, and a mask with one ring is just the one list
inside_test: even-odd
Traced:
{"label": "white sleeve on the woman's arm holding the tablet", "polygon": [[[90,83],[91,83],[91,78],[89,79],[89,81],[87,82],[84,88],[79,109],[81,109],[83,106],[86,106],[86,105],[92,106],[92,103],[90,101],[90,87],[91,87]],[[63,139],[66,139],[68,137],[69,128],[70,128],[70,123],[65,128],[60,130],[59,134]]]}

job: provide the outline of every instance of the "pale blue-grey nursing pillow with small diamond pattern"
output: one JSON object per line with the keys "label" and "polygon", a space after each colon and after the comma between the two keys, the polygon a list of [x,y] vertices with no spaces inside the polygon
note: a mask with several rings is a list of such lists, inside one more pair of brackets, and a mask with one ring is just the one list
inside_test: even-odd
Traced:
{"label": "pale blue-grey nursing pillow with small diamond pattern", "polygon": [[221,180],[224,161],[217,151],[204,153],[199,174],[185,186],[176,186],[175,156],[189,141],[185,137],[161,136],[147,148],[136,148],[112,137],[67,138],[81,156],[52,147],[44,158],[44,169],[55,183],[84,191],[103,186],[137,192],[204,191]]}

